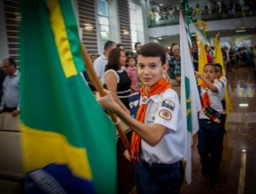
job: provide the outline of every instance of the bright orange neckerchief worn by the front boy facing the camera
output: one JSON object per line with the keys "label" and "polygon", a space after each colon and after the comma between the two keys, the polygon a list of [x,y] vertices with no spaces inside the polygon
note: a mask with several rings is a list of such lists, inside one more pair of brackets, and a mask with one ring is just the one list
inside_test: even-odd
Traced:
{"label": "bright orange neckerchief worn by the front boy facing the camera", "polygon": [[[147,94],[146,94],[146,87],[143,85],[140,90],[140,95],[142,96],[142,98],[144,96],[147,96],[147,98],[150,98],[151,96],[162,93],[169,88],[171,88],[169,81],[165,80],[164,78],[161,78],[157,83],[154,84],[154,86],[150,88]],[[147,111],[147,104],[141,104],[137,112],[136,120],[140,121],[141,123],[144,123],[146,111]],[[134,156],[136,155],[136,160],[138,162],[139,162],[140,141],[141,141],[141,138],[139,137],[139,135],[133,131],[131,154],[132,154],[132,158],[134,158]]]}

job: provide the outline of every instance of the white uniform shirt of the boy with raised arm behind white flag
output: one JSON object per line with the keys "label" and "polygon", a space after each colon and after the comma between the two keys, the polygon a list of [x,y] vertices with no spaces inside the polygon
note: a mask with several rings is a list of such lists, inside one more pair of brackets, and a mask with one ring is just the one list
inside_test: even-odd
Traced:
{"label": "white uniform shirt of the boy with raised arm behind white flag", "polygon": [[[214,85],[217,87],[218,92],[213,93],[211,90],[205,90],[203,87],[201,87],[201,93],[200,95],[203,96],[203,93],[208,93],[210,101],[211,101],[211,108],[214,108],[219,113],[223,113],[223,107],[222,107],[222,96],[224,93],[224,88],[222,86],[222,83],[215,79]],[[209,119],[206,114],[204,113],[203,109],[200,111],[200,118],[201,119]]]}

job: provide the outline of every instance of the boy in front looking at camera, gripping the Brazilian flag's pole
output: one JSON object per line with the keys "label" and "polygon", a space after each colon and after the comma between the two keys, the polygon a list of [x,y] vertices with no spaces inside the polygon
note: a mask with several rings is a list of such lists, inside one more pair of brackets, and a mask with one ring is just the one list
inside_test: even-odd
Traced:
{"label": "boy in front looking at camera, gripping the Brazilian flag's pole", "polygon": [[184,180],[184,125],[177,93],[162,78],[168,70],[164,48],[147,43],[139,50],[138,74],[143,82],[136,119],[127,115],[111,95],[97,95],[103,108],[115,113],[133,130],[138,193],[179,193]]}

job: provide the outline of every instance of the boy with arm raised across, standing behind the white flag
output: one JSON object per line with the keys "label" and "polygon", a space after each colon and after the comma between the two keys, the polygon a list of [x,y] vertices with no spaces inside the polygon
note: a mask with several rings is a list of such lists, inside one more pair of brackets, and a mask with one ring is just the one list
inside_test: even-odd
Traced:
{"label": "boy with arm raised across, standing behind the white flag", "polygon": [[216,68],[212,63],[205,65],[202,75],[197,71],[195,75],[203,81],[199,86],[203,109],[200,111],[198,131],[201,173],[204,176],[210,175],[210,183],[215,185],[222,160],[223,86],[216,79]]}

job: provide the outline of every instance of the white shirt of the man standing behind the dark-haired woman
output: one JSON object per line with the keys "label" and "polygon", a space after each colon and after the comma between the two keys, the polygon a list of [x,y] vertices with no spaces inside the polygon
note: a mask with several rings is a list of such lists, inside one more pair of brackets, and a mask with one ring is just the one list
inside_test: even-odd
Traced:
{"label": "white shirt of the man standing behind the dark-haired woman", "polygon": [[105,68],[107,63],[108,57],[104,56],[104,54],[96,58],[96,60],[94,61],[94,70],[97,76],[100,78],[102,86],[105,83]]}

